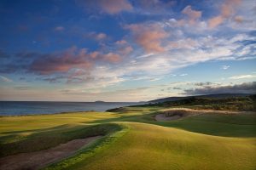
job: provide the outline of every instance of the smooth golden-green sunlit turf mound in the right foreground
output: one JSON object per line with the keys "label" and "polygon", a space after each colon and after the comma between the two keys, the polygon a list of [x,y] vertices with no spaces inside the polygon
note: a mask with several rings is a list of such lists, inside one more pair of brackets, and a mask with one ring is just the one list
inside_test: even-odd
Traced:
{"label": "smooth golden-green sunlit turf mound in the right foreground", "polygon": [[[145,123],[122,124],[131,128],[122,138],[67,169],[233,170],[256,167],[253,139],[216,137]],[[58,164],[51,169],[59,169]]]}

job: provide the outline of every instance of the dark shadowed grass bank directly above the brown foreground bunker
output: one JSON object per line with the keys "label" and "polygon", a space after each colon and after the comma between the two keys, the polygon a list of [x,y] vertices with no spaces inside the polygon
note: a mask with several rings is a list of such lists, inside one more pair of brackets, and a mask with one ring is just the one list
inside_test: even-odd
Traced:
{"label": "dark shadowed grass bank directly above the brown foreground bunker", "polygon": [[[59,126],[58,126],[59,127]],[[26,139],[0,144],[0,157],[14,155],[22,152],[45,150],[58,144],[66,143],[72,139],[84,139],[92,136],[104,136],[120,129],[119,125],[113,123],[93,125],[80,125],[67,127],[48,132],[32,133]]]}

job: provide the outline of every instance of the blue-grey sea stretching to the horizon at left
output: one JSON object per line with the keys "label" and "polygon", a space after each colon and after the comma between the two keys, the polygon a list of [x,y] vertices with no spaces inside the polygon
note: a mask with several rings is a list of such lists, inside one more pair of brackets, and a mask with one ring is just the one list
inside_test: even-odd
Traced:
{"label": "blue-grey sea stretching to the horizon at left", "polygon": [[138,105],[135,102],[51,102],[0,101],[0,116],[54,114],[72,111],[106,111],[116,107]]}

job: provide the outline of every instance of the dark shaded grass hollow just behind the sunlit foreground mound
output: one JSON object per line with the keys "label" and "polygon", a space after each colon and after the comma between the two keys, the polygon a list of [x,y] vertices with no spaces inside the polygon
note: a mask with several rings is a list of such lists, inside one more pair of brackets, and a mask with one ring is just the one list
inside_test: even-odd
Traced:
{"label": "dark shaded grass hollow just behind the sunlit foreground mound", "polygon": [[91,123],[107,122],[143,122],[163,127],[175,127],[194,133],[203,133],[223,137],[256,137],[256,116],[252,115],[200,115],[188,116],[175,121],[157,122],[154,116],[158,112],[140,116],[122,116],[99,120]]}

